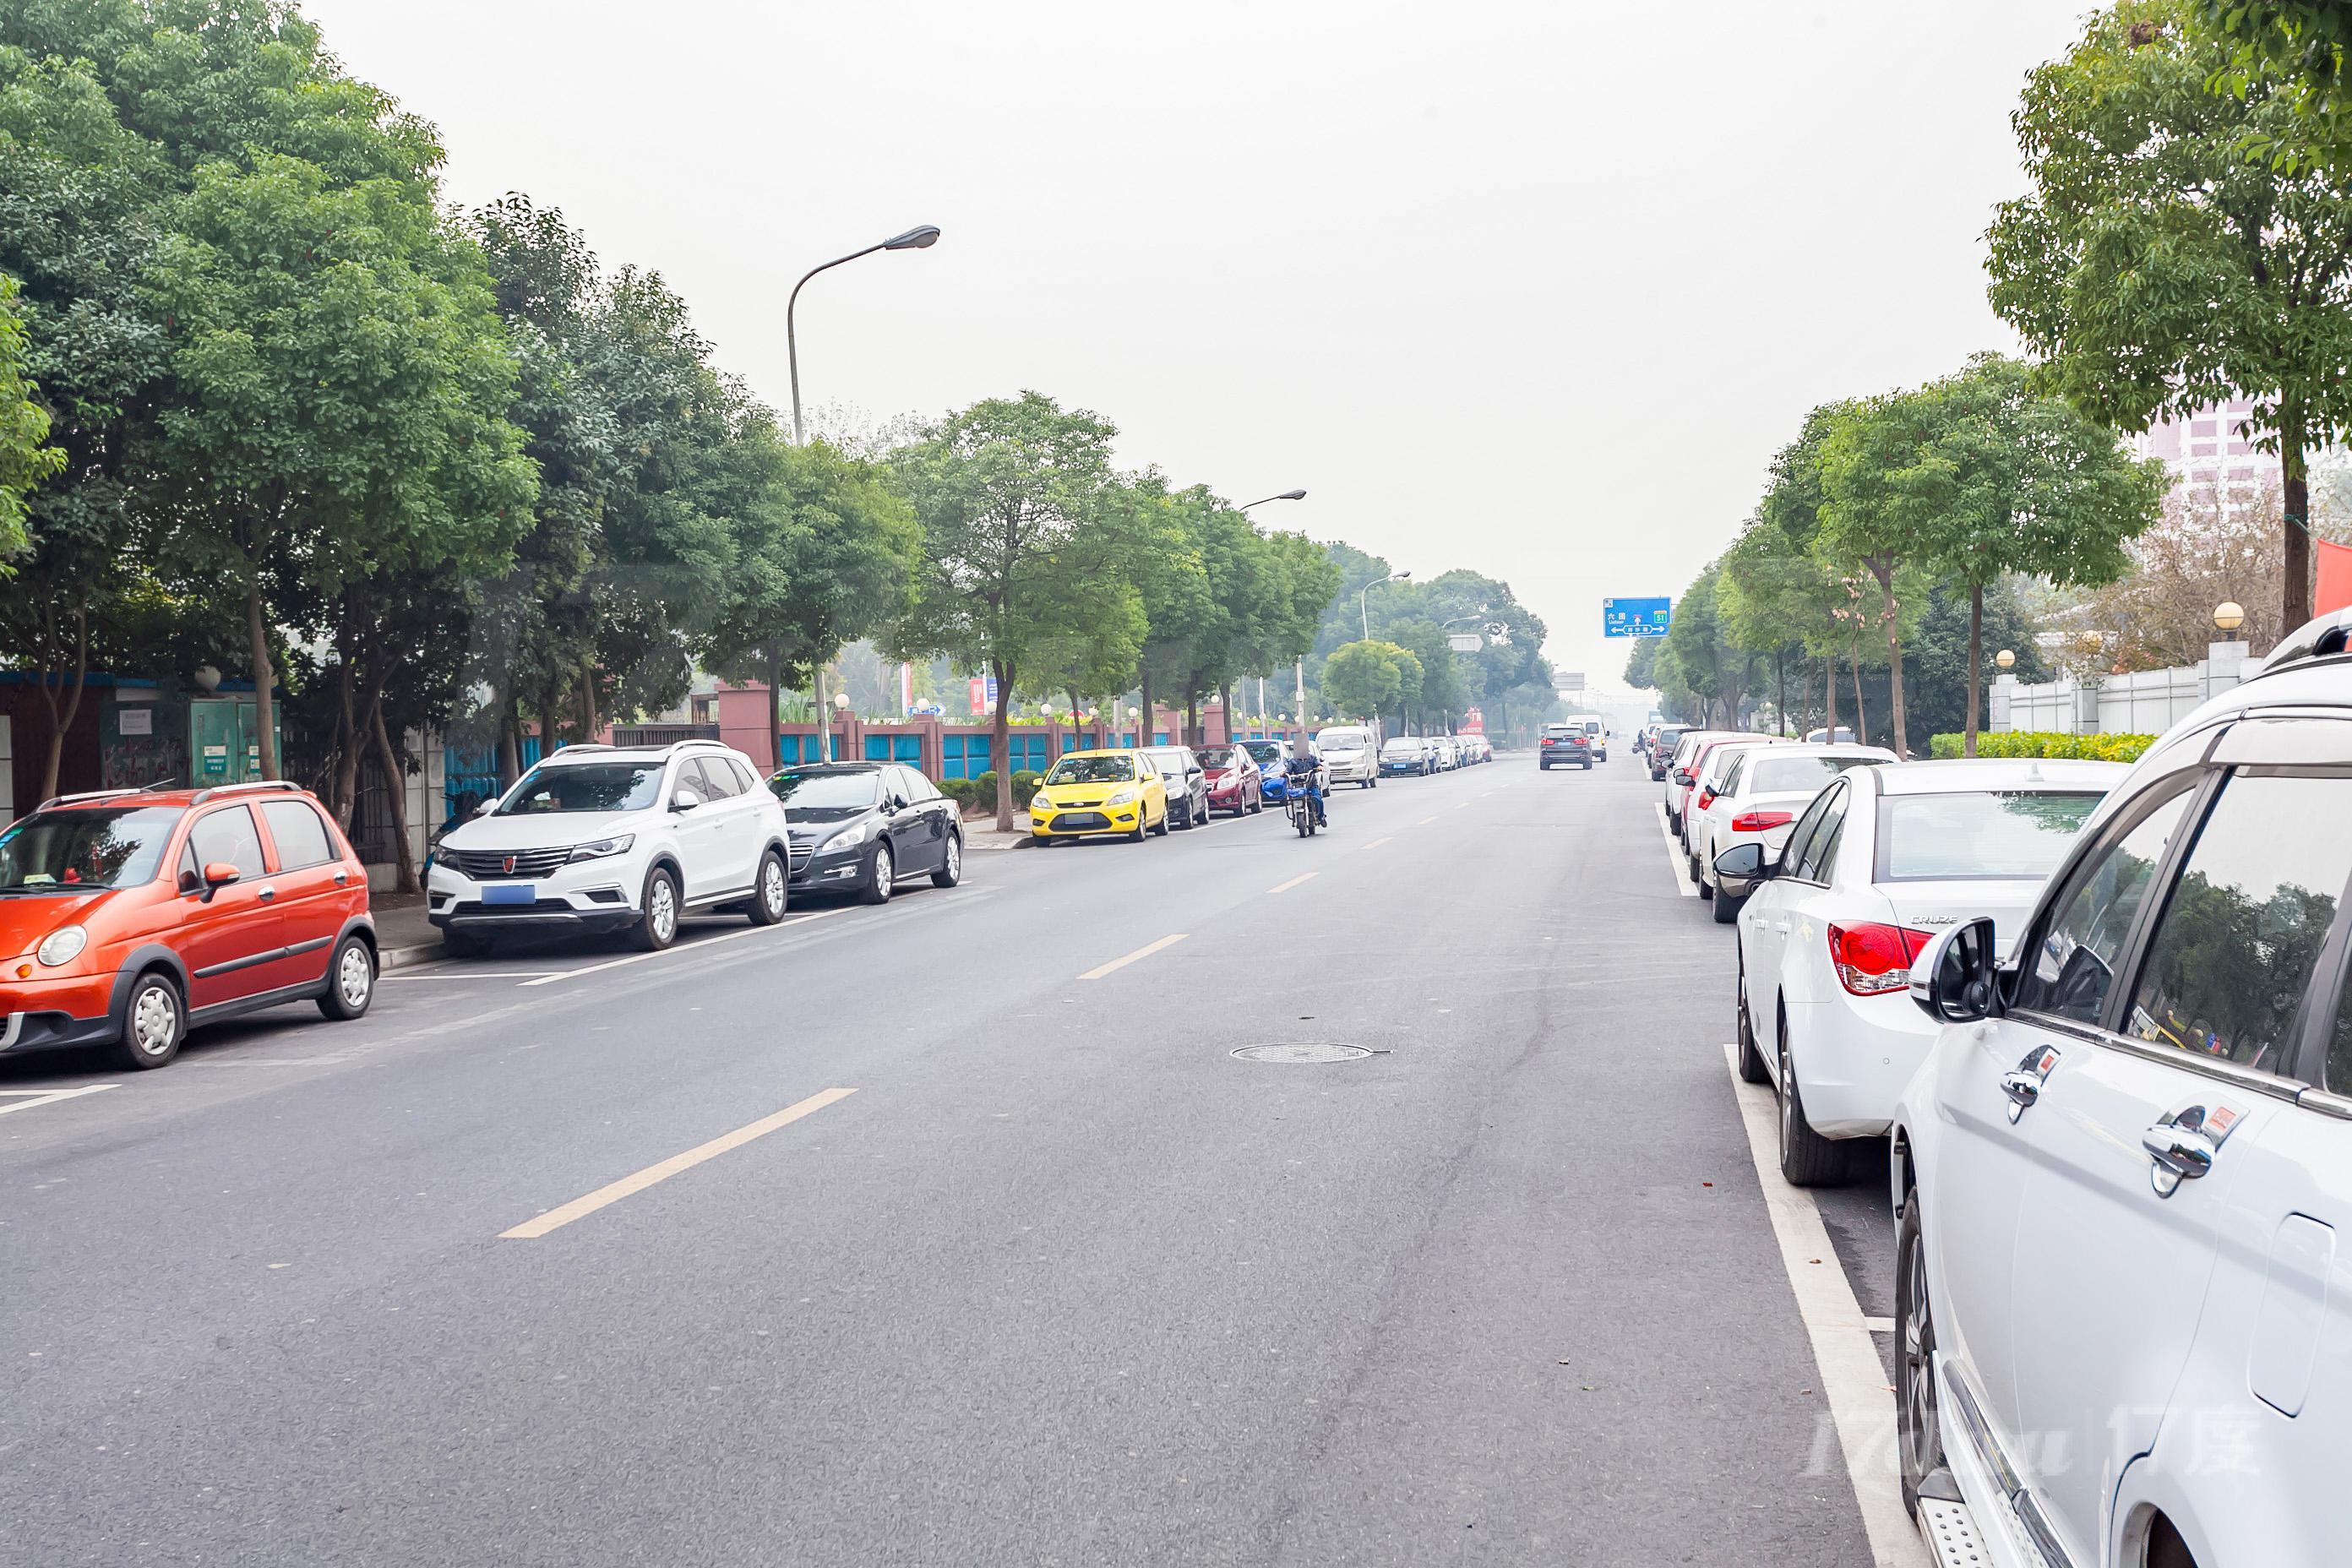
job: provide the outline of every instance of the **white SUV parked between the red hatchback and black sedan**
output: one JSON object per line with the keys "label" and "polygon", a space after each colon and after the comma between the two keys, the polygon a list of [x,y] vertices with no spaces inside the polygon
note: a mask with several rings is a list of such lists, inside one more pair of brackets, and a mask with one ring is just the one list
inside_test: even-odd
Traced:
{"label": "white SUV parked between the red hatchback and black sedan", "polygon": [[452,954],[501,931],[630,931],[677,940],[677,917],[783,919],[783,802],[717,741],[567,745],[442,835],[426,917]]}

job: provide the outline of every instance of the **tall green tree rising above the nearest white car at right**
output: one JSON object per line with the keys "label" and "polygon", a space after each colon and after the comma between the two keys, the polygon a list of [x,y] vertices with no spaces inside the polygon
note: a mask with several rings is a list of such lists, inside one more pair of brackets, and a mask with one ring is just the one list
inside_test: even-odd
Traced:
{"label": "tall green tree rising above the nearest white car at right", "polygon": [[2126,0],[2037,68],[2011,118],[2032,193],[1994,216],[1992,308],[2042,355],[2037,381],[2140,430],[2237,393],[2279,454],[2281,628],[2310,618],[2305,458],[2352,418],[2352,195],[2324,167],[2249,158],[2293,143],[2293,85],[2173,0]]}

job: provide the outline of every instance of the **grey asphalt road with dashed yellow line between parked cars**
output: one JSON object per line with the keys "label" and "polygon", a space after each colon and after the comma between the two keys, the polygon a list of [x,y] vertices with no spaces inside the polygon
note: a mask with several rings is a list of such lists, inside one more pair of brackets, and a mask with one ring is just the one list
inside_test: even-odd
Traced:
{"label": "grey asphalt road with dashed yellow line between parked cars", "polygon": [[1870,1563],[1653,799],[1505,755],[0,1063],[0,1563]]}

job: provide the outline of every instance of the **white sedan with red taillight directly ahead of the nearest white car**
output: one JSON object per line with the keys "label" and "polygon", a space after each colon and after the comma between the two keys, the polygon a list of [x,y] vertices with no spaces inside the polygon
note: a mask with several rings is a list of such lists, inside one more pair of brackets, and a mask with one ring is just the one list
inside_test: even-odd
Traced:
{"label": "white sedan with red taillight directly ahead of the nearest white car", "polygon": [[[1769,757],[1778,748],[1759,748]],[[1780,1173],[1837,1182],[1893,1121],[1936,1030],[1910,966],[1938,929],[1990,914],[2013,936],[2119,762],[1891,762],[1839,773],[1778,856],[1715,858],[1740,898],[1740,1077],[1780,1095]]]}

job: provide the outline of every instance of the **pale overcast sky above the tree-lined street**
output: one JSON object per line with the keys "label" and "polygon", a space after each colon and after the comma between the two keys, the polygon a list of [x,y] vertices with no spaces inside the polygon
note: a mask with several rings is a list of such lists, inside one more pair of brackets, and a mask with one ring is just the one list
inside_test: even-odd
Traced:
{"label": "pale overcast sky above the tree-lined street", "polygon": [[308,0],[449,195],[562,207],[786,407],[1037,388],[1122,458],[1432,576],[1618,684],[1830,397],[2013,348],[2009,110],[2082,0],[1675,7]]}

